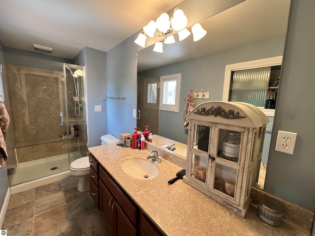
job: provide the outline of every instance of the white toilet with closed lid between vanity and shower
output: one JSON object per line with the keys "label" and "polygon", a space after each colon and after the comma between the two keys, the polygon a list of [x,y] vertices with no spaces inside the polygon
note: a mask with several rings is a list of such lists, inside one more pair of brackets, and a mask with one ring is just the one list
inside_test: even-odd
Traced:
{"label": "white toilet with closed lid between vanity and shower", "polygon": [[[103,135],[100,138],[101,144],[110,144],[118,142],[119,139],[111,134]],[[85,192],[90,190],[90,162],[89,156],[78,158],[70,164],[70,174],[79,177],[78,190]]]}

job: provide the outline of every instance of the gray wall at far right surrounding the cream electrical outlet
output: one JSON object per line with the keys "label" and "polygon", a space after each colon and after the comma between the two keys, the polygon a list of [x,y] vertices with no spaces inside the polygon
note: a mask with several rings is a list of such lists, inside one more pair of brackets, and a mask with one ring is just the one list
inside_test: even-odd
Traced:
{"label": "gray wall at far right surrounding the cream electrical outlet", "polygon": [[[315,211],[315,1],[291,0],[265,190]],[[278,130],[297,133],[293,155],[275,151]]]}

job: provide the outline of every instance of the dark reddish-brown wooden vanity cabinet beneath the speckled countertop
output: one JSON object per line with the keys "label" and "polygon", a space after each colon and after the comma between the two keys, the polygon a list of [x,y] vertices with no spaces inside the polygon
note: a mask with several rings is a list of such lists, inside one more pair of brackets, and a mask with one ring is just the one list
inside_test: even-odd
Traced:
{"label": "dark reddish-brown wooden vanity cabinet beneath the speckled countertop", "polygon": [[113,236],[163,236],[90,153],[90,193]]}

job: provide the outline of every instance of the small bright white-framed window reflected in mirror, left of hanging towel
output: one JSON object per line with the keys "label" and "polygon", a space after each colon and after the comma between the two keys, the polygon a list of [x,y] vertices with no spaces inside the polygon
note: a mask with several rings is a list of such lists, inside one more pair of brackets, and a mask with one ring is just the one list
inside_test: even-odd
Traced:
{"label": "small bright white-framed window reflected in mirror, left of hanging towel", "polygon": [[179,112],[181,74],[160,77],[160,110]]}

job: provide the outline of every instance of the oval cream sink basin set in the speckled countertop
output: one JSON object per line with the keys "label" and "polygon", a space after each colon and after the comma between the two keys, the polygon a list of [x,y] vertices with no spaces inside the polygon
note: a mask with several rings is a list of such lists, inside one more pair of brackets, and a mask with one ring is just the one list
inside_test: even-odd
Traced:
{"label": "oval cream sink basin set in the speckled countertop", "polygon": [[123,171],[131,177],[138,179],[152,179],[158,176],[158,167],[150,161],[132,158],[123,162]]}

